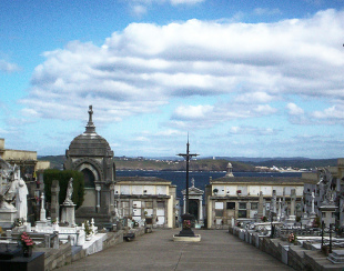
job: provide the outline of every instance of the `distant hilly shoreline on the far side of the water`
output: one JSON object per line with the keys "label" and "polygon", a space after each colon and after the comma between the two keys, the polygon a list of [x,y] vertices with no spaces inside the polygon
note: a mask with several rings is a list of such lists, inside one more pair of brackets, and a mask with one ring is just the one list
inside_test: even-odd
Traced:
{"label": "distant hilly shoreline on the far side of the water", "polygon": [[[51,168],[62,169],[65,161],[64,155],[39,157],[39,160],[50,161]],[[185,161],[179,158],[114,158],[118,170],[185,170]],[[279,168],[313,169],[318,167],[336,165],[337,159],[308,159],[308,158],[205,158],[190,162],[190,170],[194,171],[225,171],[231,162],[234,172],[253,172],[255,167],[273,165]]]}

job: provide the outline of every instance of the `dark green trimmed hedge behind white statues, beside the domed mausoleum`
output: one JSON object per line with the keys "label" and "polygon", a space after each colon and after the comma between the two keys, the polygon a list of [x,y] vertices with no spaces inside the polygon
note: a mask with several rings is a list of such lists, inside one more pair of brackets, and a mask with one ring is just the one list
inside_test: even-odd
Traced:
{"label": "dark green trimmed hedge behind white statues, beside the domed mausoleum", "polygon": [[44,170],[44,194],[48,202],[51,201],[51,184],[53,180],[58,180],[60,184],[59,203],[62,204],[65,199],[67,187],[69,180],[73,178],[72,200],[77,204],[77,209],[82,205],[84,195],[83,174],[75,170]]}

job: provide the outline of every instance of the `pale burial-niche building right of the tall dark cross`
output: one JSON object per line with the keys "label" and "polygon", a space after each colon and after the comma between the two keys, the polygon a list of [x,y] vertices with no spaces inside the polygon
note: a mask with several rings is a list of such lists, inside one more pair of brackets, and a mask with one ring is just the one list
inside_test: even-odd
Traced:
{"label": "pale burial-niche building right of the tall dark cross", "polygon": [[[296,214],[301,215],[303,182],[301,178],[274,177],[234,177],[231,164],[223,178],[210,179],[205,187],[206,227],[226,229],[233,221],[253,221],[257,215],[270,217],[272,200],[284,199],[291,202],[291,191],[296,193]],[[263,207],[260,207],[260,193],[263,193]],[[279,203],[275,203],[279,209]],[[261,213],[259,213],[261,210]],[[276,215],[279,210],[274,210]]]}

